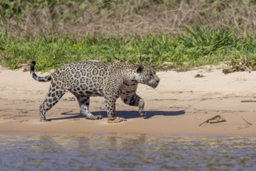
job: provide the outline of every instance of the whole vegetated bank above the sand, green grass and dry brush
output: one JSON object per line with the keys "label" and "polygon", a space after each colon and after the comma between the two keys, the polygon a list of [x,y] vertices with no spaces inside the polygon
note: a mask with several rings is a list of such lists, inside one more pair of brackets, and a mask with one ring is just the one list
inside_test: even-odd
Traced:
{"label": "whole vegetated bank above the sand, green grass and dry brush", "polygon": [[[200,2],[3,0],[0,63],[14,69],[36,60],[37,70],[46,71],[89,59],[159,69],[218,65],[244,56],[254,61],[256,33],[250,22],[256,19],[256,2]],[[229,18],[232,9],[237,16]]]}

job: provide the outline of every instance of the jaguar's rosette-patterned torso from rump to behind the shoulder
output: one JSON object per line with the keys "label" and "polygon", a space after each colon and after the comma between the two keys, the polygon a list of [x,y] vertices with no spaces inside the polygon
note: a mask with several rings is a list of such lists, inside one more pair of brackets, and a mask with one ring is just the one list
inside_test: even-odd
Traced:
{"label": "jaguar's rosette-patterned torso from rump to behind the shoulder", "polygon": [[79,61],[62,65],[52,73],[52,82],[68,89],[75,96],[103,96],[103,80],[107,78],[106,63]]}

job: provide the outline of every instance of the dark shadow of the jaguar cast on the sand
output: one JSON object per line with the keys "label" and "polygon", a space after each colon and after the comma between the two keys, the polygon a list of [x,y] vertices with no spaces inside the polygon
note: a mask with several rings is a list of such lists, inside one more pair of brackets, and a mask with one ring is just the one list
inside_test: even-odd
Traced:
{"label": "dark shadow of the jaguar cast on the sand", "polygon": [[[102,117],[107,117],[107,112],[105,111],[96,111],[92,112],[93,115],[102,115]],[[176,110],[176,111],[163,111],[163,110],[150,110],[146,111],[145,119],[149,119],[154,116],[177,116],[186,113],[185,110]],[[67,117],[58,117],[50,118],[50,120],[68,120],[68,119],[79,119],[84,118],[80,113],[71,113],[71,111],[61,113]],[[140,117],[138,111],[117,111],[117,117],[124,117],[125,119],[132,119]]]}

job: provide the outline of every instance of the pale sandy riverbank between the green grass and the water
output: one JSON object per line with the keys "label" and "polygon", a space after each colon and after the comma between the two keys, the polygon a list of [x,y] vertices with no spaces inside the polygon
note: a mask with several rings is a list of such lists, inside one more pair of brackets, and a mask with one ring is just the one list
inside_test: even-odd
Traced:
{"label": "pale sandy riverbank between the green grass and the water", "polygon": [[[195,78],[195,75],[204,75]],[[47,73],[38,73],[47,75]],[[147,118],[137,107],[117,99],[117,116],[127,121],[107,124],[102,97],[92,97],[90,111],[102,120],[86,120],[71,93],[47,112],[51,122],[40,123],[39,106],[50,82],[37,82],[21,69],[0,69],[0,133],[135,133],[182,135],[256,135],[256,72],[224,75],[221,69],[159,72],[156,89],[139,85]],[[202,124],[216,115],[226,122]],[[202,126],[199,127],[199,124]]]}

